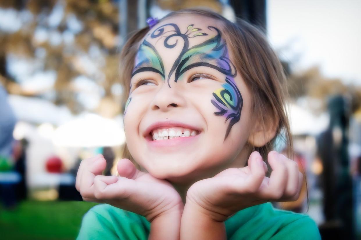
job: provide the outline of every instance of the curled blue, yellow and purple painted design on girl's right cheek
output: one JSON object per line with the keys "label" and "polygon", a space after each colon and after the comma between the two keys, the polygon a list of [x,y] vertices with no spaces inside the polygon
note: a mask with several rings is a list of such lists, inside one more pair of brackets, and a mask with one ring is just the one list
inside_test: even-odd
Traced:
{"label": "curled blue, yellow and purple painted design on girl's right cheek", "polygon": [[242,95],[236,86],[233,78],[226,78],[226,83],[222,85],[223,88],[213,92],[214,100],[210,100],[219,112],[215,112],[216,116],[225,116],[227,122],[230,122],[227,127],[225,139],[228,137],[232,126],[237,123],[241,117],[243,107]]}

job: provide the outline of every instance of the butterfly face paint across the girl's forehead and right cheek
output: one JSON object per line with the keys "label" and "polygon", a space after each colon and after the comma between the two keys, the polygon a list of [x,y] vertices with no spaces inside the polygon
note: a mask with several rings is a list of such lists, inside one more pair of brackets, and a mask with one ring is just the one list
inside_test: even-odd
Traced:
{"label": "butterfly face paint across the girl's forehead and right cheek", "polygon": [[[167,81],[170,86],[170,78],[174,74],[174,82],[182,79],[182,75],[195,67],[210,67],[226,75],[222,88],[213,92],[211,103],[217,108],[214,112],[216,116],[224,116],[225,122],[228,122],[224,140],[229,135],[232,126],[239,122],[243,107],[242,95],[236,86],[234,77],[237,75],[234,64],[229,59],[225,41],[221,37],[218,28],[208,26],[208,30],[216,32],[216,35],[200,44],[190,47],[189,39],[197,36],[207,36],[201,28],[194,28],[194,24],[188,25],[184,33],[181,32],[177,24],[168,23],[157,27],[148,37],[158,38],[157,41],[164,39],[164,46],[172,49],[178,44],[179,37],[183,40],[181,53],[175,59],[168,74],[165,73],[164,64],[156,48],[144,40],[139,47],[136,55],[135,68],[132,76],[136,73],[151,71],[161,75],[162,79]],[[165,33],[169,34],[164,36]],[[170,44],[170,40],[177,37],[177,40]]]}

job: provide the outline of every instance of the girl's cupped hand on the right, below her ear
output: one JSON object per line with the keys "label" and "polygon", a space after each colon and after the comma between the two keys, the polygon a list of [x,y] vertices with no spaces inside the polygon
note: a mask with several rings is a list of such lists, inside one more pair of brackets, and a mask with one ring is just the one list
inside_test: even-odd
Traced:
{"label": "girl's cupped hand on the right, below her ear", "polygon": [[248,166],[229,168],[212,178],[193,184],[187,192],[186,207],[191,205],[214,221],[223,222],[239,210],[268,201],[298,199],[303,175],[297,163],[271,151],[272,168],[266,177],[267,165],[258,152],[248,159]]}

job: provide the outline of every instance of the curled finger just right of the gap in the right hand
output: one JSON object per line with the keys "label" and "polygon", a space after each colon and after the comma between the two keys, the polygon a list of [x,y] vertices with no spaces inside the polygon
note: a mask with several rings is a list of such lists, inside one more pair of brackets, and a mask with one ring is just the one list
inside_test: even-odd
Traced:
{"label": "curled finger just right of the gap in the right hand", "polygon": [[272,200],[280,199],[287,186],[288,172],[283,159],[279,157],[276,151],[270,151],[268,162],[272,168],[269,185],[266,189],[266,198]]}

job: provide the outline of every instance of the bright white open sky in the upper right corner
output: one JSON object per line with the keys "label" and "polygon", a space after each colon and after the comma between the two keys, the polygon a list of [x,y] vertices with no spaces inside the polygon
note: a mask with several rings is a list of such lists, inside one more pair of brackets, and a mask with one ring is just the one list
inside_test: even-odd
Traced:
{"label": "bright white open sky in the upper right corner", "polygon": [[361,0],[268,0],[268,37],[292,69],[361,86]]}

